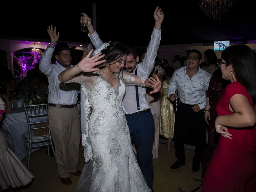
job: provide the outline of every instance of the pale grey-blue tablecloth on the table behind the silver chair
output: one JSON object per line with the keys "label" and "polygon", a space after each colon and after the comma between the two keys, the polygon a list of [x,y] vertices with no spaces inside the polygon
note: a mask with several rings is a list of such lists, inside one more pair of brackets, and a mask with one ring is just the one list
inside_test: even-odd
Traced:
{"label": "pale grey-blue tablecloth on the table behind the silver chair", "polygon": [[[43,120],[47,120],[47,118],[42,118]],[[15,146],[15,154],[22,160],[26,156],[22,134],[28,131],[24,109],[18,108],[17,110],[13,110],[12,113],[5,114],[2,119],[2,127],[10,132]],[[33,149],[32,152],[35,150],[37,149]]]}

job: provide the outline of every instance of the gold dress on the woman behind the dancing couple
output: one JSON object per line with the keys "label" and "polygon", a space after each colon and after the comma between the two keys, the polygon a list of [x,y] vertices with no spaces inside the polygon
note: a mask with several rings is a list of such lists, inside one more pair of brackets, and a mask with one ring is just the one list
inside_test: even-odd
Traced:
{"label": "gold dress on the woman behind the dancing couple", "polygon": [[167,97],[166,81],[163,82],[163,98],[160,104],[160,129],[159,134],[165,138],[173,138],[175,112],[170,99]]}

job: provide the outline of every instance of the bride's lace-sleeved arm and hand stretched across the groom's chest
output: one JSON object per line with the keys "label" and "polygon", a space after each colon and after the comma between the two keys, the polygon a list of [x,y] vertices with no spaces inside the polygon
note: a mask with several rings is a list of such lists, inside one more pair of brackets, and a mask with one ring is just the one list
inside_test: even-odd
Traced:
{"label": "bride's lace-sleeved arm and hand stretched across the groom's chest", "polygon": [[125,84],[146,86],[146,87],[152,88],[153,91],[151,91],[149,94],[158,92],[162,86],[162,83],[159,80],[158,76],[156,75],[155,77],[156,79],[153,77],[147,78],[147,77],[136,76],[125,71],[123,72],[123,78],[124,78]]}

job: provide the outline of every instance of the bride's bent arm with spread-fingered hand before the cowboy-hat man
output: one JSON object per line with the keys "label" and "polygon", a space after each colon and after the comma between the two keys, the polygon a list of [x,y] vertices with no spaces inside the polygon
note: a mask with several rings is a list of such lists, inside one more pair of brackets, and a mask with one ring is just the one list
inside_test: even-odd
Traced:
{"label": "bride's bent arm with spread-fingered hand before the cowboy-hat man", "polygon": [[[59,74],[58,80],[62,82],[83,82],[84,76],[81,75],[81,72],[93,72],[100,70],[99,68],[95,68],[97,65],[106,62],[106,60],[101,60],[105,55],[101,55],[98,53],[90,58],[93,50],[90,50],[89,54],[83,58],[78,64],[74,67],[68,68]],[[78,75],[80,74],[80,75]]]}

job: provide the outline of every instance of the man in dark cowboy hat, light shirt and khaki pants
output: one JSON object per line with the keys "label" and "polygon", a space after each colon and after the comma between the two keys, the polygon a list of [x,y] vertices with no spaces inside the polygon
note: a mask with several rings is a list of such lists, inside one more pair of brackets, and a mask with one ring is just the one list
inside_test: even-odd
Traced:
{"label": "man in dark cowboy hat, light shirt and khaki pants", "polygon": [[[59,42],[59,32],[56,28],[48,27],[48,34],[51,42],[39,65],[40,70],[46,74],[49,82],[48,94],[48,120],[52,139],[55,145],[55,159],[63,184],[71,184],[70,173],[80,176],[77,170],[79,164],[80,146],[80,120],[76,103],[78,100],[79,86],[74,83],[65,84],[58,80],[59,74],[70,68],[72,57],[71,50],[66,42]],[[55,50],[54,50],[54,45]],[[51,58],[56,60],[56,64],[51,63]]]}

